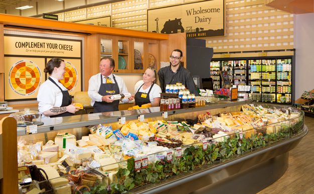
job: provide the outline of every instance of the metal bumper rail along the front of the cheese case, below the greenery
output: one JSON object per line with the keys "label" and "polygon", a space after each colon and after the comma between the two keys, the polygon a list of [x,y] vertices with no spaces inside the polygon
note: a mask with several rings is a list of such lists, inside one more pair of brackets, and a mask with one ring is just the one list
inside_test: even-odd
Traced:
{"label": "metal bumper rail along the front of the cheese case, below the greenery", "polygon": [[136,193],[145,193],[145,194],[159,193],[161,191],[170,189],[172,187],[178,186],[178,185],[183,184],[185,182],[188,182],[188,181],[197,179],[199,177],[202,177],[202,176],[204,176],[206,174],[209,174],[209,173],[212,173],[212,172],[224,169],[224,168],[226,168],[228,166],[232,166],[232,165],[234,165],[236,163],[248,160],[248,159],[253,158],[253,157],[257,156],[257,155],[260,155],[260,154],[269,152],[271,150],[274,150],[276,148],[280,148],[280,147],[282,147],[284,145],[290,144],[290,143],[292,143],[294,141],[297,141],[297,140],[303,138],[307,133],[308,133],[308,128],[307,128],[306,125],[304,125],[303,133],[297,134],[296,136],[294,136],[294,137],[292,137],[292,138],[290,138],[288,140],[284,140],[282,142],[276,143],[276,144],[271,145],[271,146],[266,147],[266,148],[255,150],[255,151],[253,151],[253,152],[251,152],[249,154],[246,154],[244,156],[240,156],[238,158],[232,159],[232,160],[224,162],[222,164],[218,164],[218,165],[215,165],[213,167],[209,167],[207,169],[204,169],[204,170],[201,170],[201,171],[197,171],[197,172],[195,172],[193,174],[189,174],[189,175],[180,177],[178,179],[167,181],[164,184],[158,184],[158,185],[153,186],[151,188],[147,188],[147,189],[142,190],[142,191],[137,191]]}

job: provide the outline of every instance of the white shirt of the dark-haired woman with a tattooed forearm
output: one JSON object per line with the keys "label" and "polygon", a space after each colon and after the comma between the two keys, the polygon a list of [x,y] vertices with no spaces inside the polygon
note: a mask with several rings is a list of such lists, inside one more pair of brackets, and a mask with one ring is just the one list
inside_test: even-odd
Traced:
{"label": "white shirt of the dark-haired woman with a tattooed forearm", "polygon": [[[56,78],[51,77],[62,90],[68,90]],[[40,85],[37,94],[38,111],[42,114],[53,107],[61,107],[63,94],[61,90],[49,79]],[[49,116],[48,116],[49,117]]]}

